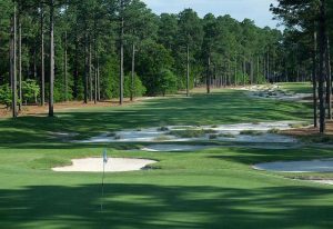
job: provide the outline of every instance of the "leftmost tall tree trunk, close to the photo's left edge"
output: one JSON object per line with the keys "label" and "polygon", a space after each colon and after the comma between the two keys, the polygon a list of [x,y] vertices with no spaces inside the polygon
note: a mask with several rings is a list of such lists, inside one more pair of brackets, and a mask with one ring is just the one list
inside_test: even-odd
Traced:
{"label": "leftmost tall tree trunk, close to the photo's left edge", "polygon": [[[16,2],[14,2],[16,3]],[[10,78],[12,93],[12,118],[18,117],[17,108],[17,7],[14,6],[11,19],[11,41],[10,41]]]}

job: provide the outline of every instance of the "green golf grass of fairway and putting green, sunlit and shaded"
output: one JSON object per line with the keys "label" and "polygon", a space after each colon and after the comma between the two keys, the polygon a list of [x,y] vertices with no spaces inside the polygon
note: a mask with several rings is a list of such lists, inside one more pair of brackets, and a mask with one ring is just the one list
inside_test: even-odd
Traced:
{"label": "green golf grass of fairway and putting green, sunlit and shaded", "polygon": [[[124,108],[63,111],[53,119],[2,119],[0,228],[332,228],[332,187],[251,169],[264,161],[330,158],[331,149],[216,146],[158,153],[127,151],[144,143],[70,143],[48,133],[77,132],[84,139],[123,128],[310,118],[310,107],[303,103],[250,99],[224,90]],[[51,168],[69,165],[73,158],[100,156],[104,148],[109,156],[159,162],[150,170],[107,173],[101,212],[100,173],[58,173]]]}

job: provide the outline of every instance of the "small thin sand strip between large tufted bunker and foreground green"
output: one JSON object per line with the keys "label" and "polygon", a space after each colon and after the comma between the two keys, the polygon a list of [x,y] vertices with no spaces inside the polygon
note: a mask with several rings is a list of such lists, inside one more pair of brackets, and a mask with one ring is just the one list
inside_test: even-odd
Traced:
{"label": "small thin sand strip between large tufted bunker and foreground green", "polygon": [[[191,145],[152,145],[142,148],[143,151],[149,152],[184,152],[184,151],[198,151],[213,146],[191,146]],[[216,146],[215,146],[216,147]]]}

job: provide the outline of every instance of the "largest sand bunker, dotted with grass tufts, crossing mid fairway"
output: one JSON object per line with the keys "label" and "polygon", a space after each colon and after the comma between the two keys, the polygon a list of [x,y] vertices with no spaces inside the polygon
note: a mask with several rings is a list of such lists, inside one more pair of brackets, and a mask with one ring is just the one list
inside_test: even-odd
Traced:
{"label": "largest sand bunker, dotted with grass tufts, crossing mid fairway", "polygon": [[[270,130],[289,130],[299,121],[278,121],[259,123],[238,123],[220,126],[167,126],[139,130],[122,130],[107,132],[80,143],[107,143],[107,142],[189,142],[189,141],[222,141],[222,142],[256,142],[256,143],[293,143],[296,139],[287,136],[269,133]],[[201,136],[193,138],[175,136],[176,131],[201,131]],[[243,131],[249,131],[244,133]],[[255,135],[251,133],[254,131]],[[259,133],[259,135],[258,135]]]}

